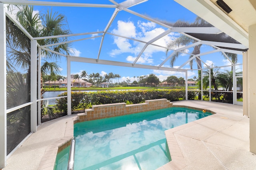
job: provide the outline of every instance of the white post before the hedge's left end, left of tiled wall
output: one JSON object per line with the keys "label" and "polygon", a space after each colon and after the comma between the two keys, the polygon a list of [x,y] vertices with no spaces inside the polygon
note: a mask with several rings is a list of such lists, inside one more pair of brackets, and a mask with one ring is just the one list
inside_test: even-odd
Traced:
{"label": "white post before the hedge's left end, left of tiled wall", "polygon": [[70,77],[70,72],[71,72],[71,69],[70,69],[70,65],[71,65],[71,59],[70,59],[70,55],[67,56],[67,109],[68,109],[68,116],[71,115],[71,77]]}

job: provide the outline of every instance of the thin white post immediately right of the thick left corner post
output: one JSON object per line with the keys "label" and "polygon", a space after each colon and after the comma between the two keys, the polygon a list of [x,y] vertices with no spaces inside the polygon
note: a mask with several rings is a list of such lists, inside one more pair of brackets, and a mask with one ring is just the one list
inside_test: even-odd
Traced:
{"label": "thin white post immediately right of the thick left corner post", "polygon": [[38,121],[38,125],[41,125],[41,48],[38,47],[38,105],[37,105],[37,111],[38,111],[38,115],[37,115],[37,121]]}

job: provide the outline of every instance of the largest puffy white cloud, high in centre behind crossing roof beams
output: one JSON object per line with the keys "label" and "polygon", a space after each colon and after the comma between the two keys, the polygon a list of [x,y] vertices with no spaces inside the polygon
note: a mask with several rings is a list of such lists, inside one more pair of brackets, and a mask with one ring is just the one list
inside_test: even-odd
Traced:
{"label": "largest puffy white cloud, high in centre behind crossing roof beams", "polygon": [[[118,35],[124,35],[126,37],[139,39],[141,41],[148,42],[157,35],[160,35],[165,30],[160,27],[156,27],[155,23],[152,22],[137,22],[137,29],[135,24],[132,21],[121,21],[119,20],[118,26],[116,29],[112,30],[112,33],[118,34]],[[156,45],[160,45],[165,47],[166,44],[171,40],[174,39],[173,33],[170,33],[169,35],[166,35],[162,37],[161,39],[158,39],[154,42]],[[140,53],[142,48],[145,46],[145,43],[132,41],[129,39],[125,39],[122,37],[114,37],[114,44],[117,46],[116,49],[113,49],[110,51],[111,57],[116,57],[122,53],[132,53],[134,54],[134,57],[132,55],[129,55],[126,57],[126,61],[133,62],[134,59],[136,59],[137,55]],[[140,59],[138,60],[138,63],[153,63],[152,54],[157,52],[165,52],[164,48],[156,47],[154,45],[148,45],[146,50],[141,55]]]}

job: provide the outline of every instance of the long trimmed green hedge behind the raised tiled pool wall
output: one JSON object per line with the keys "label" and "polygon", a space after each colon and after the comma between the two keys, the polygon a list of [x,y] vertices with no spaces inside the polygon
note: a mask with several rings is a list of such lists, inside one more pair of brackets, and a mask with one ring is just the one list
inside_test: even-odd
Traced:
{"label": "long trimmed green hedge behind the raised tiled pool wall", "polygon": [[[152,90],[123,90],[123,91],[98,91],[98,92],[71,92],[71,108],[86,109],[92,105],[129,103],[138,104],[145,100],[166,98],[167,100],[185,100],[185,89],[152,89]],[[194,92],[188,92],[188,99],[194,100]],[[58,96],[67,96],[64,92]],[[57,100],[57,108],[64,113],[67,112],[67,98]]]}

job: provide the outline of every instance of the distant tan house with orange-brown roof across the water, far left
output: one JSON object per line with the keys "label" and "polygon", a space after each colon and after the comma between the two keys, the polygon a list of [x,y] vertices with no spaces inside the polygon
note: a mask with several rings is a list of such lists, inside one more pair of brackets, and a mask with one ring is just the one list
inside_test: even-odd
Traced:
{"label": "distant tan house with orange-brown roof across the water, far left", "polygon": [[[86,82],[82,79],[74,79],[74,74],[71,74],[70,75],[70,78],[71,78],[71,87],[90,87],[92,86],[92,83],[90,82]],[[47,82],[44,82],[44,85],[45,86],[54,86],[54,81],[47,81]],[[68,79],[64,79],[64,81],[56,81],[55,82],[55,85],[56,86],[60,86],[60,87],[67,87],[68,85]]]}

